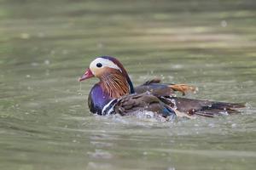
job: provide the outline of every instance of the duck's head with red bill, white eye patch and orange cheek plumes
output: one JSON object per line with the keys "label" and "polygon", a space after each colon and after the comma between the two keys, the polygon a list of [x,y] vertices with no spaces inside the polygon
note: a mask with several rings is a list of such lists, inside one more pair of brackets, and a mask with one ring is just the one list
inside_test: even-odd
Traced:
{"label": "duck's head with red bill, white eye patch and orange cheek plumes", "polygon": [[98,85],[110,98],[117,99],[125,94],[134,94],[134,88],[130,77],[124,66],[118,59],[109,56],[102,56],[94,59],[79,82],[91,77],[100,79]]}

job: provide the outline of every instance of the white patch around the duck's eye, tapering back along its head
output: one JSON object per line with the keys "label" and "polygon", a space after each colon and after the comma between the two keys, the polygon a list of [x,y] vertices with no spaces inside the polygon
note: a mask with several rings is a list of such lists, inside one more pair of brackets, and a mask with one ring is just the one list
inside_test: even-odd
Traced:
{"label": "white patch around the duck's eye, tapering back along its head", "polygon": [[[97,59],[94,59],[91,63],[90,63],[90,70],[92,71],[93,74],[95,74],[94,70],[96,68],[98,68],[96,65],[98,63],[101,63],[102,64],[102,67],[109,67],[109,68],[113,68],[113,69],[116,69],[116,70],[119,70],[121,71],[121,69],[119,68],[118,65],[115,65],[113,63],[113,61],[109,60],[109,59],[102,59],[102,58],[97,58]],[[122,72],[122,71],[121,71]]]}

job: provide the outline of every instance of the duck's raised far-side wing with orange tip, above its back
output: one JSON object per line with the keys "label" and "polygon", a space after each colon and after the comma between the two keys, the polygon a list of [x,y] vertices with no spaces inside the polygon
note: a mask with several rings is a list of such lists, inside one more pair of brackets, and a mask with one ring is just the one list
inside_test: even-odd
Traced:
{"label": "duck's raised far-side wing with orange tip, above its back", "polygon": [[187,84],[172,84],[172,83],[160,83],[160,79],[153,79],[144,82],[142,85],[135,88],[137,94],[143,94],[145,92],[150,92],[155,96],[170,96],[175,94],[175,92],[181,92],[183,95],[189,92],[195,92],[196,88],[194,86],[189,86]]}

